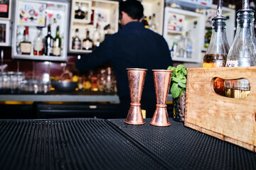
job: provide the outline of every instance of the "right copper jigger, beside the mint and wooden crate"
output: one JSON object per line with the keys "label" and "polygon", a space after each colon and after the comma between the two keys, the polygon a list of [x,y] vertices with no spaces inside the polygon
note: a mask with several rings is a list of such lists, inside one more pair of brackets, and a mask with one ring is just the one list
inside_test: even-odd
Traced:
{"label": "right copper jigger, beside the mint and wooden crate", "polygon": [[154,75],[154,86],[156,90],[156,111],[151,120],[151,125],[169,126],[169,117],[167,113],[167,96],[171,83],[172,70],[152,69]]}

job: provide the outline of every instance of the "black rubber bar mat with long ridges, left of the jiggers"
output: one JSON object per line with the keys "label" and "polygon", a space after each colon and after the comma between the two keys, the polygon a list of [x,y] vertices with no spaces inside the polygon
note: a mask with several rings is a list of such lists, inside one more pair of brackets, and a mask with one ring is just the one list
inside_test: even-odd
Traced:
{"label": "black rubber bar mat with long ridges, left of the jiggers", "polygon": [[173,169],[108,120],[0,120],[0,169]]}

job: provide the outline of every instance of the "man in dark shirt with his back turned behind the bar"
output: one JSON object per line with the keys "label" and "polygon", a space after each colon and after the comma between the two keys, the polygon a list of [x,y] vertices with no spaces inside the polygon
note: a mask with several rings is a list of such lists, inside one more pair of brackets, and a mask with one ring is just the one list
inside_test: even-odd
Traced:
{"label": "man in dark shirt with his back turned behind the bar", "polygon": [[148,69],[142,91],[142,106],[146,117],[151,118],[156,108],[156,94],[152,69],[167,69],[172,65],[169,47],[164,38],[154,31],[144,28],[142,21],[144,8],[137,0],[119,2],[119,15],[123,28],[108,36],[89,55],[81,57],[76,67],[90,70],[105,62],[111,62],[117,79],[119,95],[118,118],[126,118],[130,106],[127,68]]}

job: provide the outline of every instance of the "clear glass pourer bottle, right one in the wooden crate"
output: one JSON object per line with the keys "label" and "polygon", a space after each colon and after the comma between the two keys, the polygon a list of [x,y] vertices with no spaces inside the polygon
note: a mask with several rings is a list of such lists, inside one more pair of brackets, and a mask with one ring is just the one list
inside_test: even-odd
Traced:
{"label": "clear glass pourer bottle, right one in the wooden crate", "polygon": [[[226,67],[256,66],[256,39],[254,32],[254,11],[248,1],[242,1],[238,11],[237,29],[233,44],[228,52]],[[250,83],[247,79],[225,81],[225,94],[231,98],[245,98],[250,94]]]}

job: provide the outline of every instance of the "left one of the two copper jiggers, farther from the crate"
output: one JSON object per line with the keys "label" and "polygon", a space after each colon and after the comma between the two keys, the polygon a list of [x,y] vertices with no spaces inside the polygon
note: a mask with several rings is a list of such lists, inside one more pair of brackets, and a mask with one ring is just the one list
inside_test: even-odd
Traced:
{"label": "left one of the two copper jiggers, farther from the crate", "polygon": [[147,69],[127,69],[129,90],[131,95],[131,106],[125,123],[131,125],[143,125],[141,98]]}

